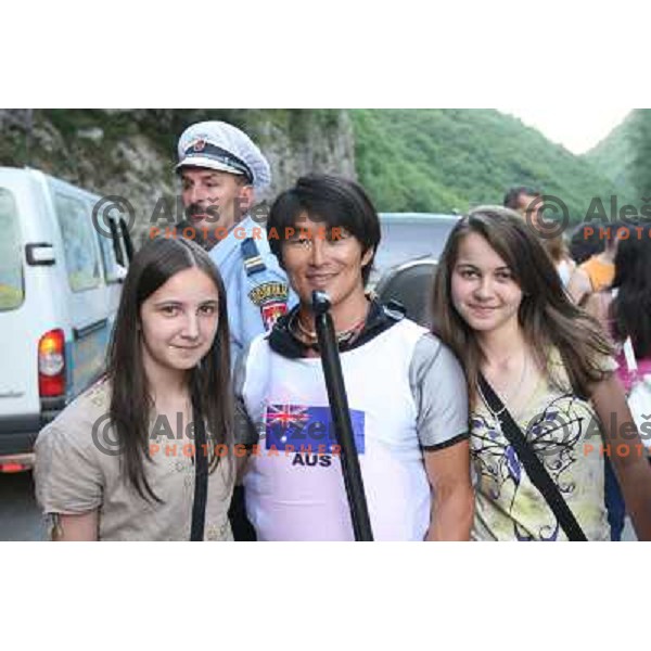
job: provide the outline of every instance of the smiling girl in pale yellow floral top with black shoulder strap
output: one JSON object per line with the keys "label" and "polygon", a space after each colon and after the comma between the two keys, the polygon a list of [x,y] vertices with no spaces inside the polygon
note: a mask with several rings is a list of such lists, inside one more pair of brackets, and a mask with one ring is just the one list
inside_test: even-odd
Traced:
{"label": "smiling girl in pale yellow floral top with black shoulder strap", "polygon": [[505,436],[500,412],[483,396],[483,374],[589,540],[610,539],[604,456],[638,538],[651,539],[651,468],[614,373],[612,347],[598,322],[569,299],[535,231],[507,208],[472,210],[448,239],[433,307],[436,334],[468,379],[473,538],[566,539]]}

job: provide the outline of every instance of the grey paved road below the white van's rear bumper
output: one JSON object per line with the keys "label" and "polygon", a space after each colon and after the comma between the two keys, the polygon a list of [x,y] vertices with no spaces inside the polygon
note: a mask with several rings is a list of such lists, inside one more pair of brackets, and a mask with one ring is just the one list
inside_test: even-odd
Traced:
{"label": "grey paved road below the white van's rear bumper", "polygon": [[44,540],[30,472],[0,473],[0,540]]}

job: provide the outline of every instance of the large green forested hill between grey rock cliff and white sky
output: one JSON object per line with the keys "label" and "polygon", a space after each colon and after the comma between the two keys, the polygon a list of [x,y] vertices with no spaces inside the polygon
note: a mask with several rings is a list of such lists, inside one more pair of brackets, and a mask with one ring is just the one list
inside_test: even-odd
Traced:
{"label": "large green forested hill between grey rock cliff and white sky", "polygon": [[359,180],[384,210],[500,203],[514,184],[561,197],[573,219],[620,192],[588,161],[494,110],[352,111]]}

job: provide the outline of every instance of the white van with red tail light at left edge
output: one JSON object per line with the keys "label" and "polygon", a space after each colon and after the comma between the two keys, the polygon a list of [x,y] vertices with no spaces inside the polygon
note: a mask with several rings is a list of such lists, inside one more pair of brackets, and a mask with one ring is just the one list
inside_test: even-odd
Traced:
{"label": "white van with red tail light at left edge", "polygon": [[0,167],[0,472],[28,469],[39,430],[104,369],[132,254],[100,196]]}

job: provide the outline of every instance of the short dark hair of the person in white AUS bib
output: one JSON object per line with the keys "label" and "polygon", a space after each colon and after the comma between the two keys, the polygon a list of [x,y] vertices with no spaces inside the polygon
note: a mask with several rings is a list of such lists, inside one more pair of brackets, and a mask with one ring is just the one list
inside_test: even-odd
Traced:
{"label": "short dark hair of the person in white AUS bib", "polygon": [[[285,229],[294,228],[305,213],[330,229],[344,228],[361,244],[363,253],[373,252],[361,271],[366,285],[380,244],[381,229],[378,213],[361,186],[343,177],[315,174],[301,177],[293,188],[280,194],[269,212],[267,232],[269,246],[281,266]],[[273,233],[271,229],[275,229]]]}

